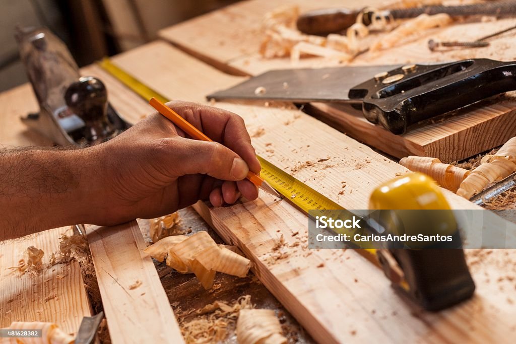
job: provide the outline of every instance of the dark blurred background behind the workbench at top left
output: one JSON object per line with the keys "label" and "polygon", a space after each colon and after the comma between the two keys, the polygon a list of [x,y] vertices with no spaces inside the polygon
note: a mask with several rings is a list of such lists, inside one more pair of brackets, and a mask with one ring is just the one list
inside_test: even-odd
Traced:
{"label": "dark blurred background behind the workbench at top left", "polygon": [[237,0],[0,0],[0,91],[27,81],[15,26],[47,26],[79,67],[157,38],[161,28]]}

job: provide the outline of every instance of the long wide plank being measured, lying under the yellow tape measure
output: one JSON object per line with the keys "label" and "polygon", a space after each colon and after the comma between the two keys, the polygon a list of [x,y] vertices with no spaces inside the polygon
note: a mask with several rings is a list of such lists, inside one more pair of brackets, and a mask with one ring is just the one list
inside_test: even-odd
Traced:
{"label": "long wide plank being measured, lying under the yellow tape measure", "polygon": [[[115,62],[174,99],[179,93],[199,99],[199,91],[222,86],[206,80],[224,80],[220,71],[159,43],[127,52]],[[149,67],[154,65],[162,68]],[[176,83],[176,65],[202,71],[203,77]],[[168,83],[154,83],[164,78]],[[367,208],[378,183],[406,171],[297,109],[216,105],[243,116],[251,134],[261,133],[252,137],[258,154],[346,208]],[[450,192],[446,196],[455,208],[478,208]],[[476,297],[431,314],[411,308],[383,273],[354,250],[309,250],[308,219],[288,202],[261,194],[257,201],[231,207],[196,208],[227,243],[253,260],[259,279],[319,342],[510,342],[516,328],[511,282],[516,277],[516,250],[467,252]],[[282,235],[280,251],[286,254],[278,257],[273,248]]]}

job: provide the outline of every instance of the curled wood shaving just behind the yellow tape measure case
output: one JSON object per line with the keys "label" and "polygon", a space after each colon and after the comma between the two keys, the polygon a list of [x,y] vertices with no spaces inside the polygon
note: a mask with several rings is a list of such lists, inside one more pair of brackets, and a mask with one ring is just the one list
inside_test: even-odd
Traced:
{"label": "curled wood shaving just behind the yellow tape measure case", "polygon": [[457,166],[442,163],[437,158],[426,156],[408,156],[399,160],[400,165],[413,172],[421,172],[432,177],[440,186],[457,191],[464,178],[470,171]]}

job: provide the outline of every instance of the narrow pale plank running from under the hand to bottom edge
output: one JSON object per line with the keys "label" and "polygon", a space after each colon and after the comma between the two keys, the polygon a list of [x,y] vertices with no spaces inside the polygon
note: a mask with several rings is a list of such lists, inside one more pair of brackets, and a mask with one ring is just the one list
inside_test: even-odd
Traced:
{"label": "narrow pale plank running from under the hand to bottom edge", "polygon": [[136,220],[86,231],[111,341],[184,342]]}

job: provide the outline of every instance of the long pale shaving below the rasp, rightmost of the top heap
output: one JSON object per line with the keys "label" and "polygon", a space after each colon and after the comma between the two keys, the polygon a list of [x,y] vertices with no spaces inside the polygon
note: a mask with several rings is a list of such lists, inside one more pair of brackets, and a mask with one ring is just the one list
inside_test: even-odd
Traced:
{"label": "long pale shaving below the rasp, rightmost of the top heap", "polygon": [[400,42],[419,34],[422,30],[432,27],[442,27],[451,23],[451,17],[445,13],[428,15],[423,13],[418,17],[399,25],[392,32],[379,38],[370,46],[371,51],[380,51],[399,44]]}

